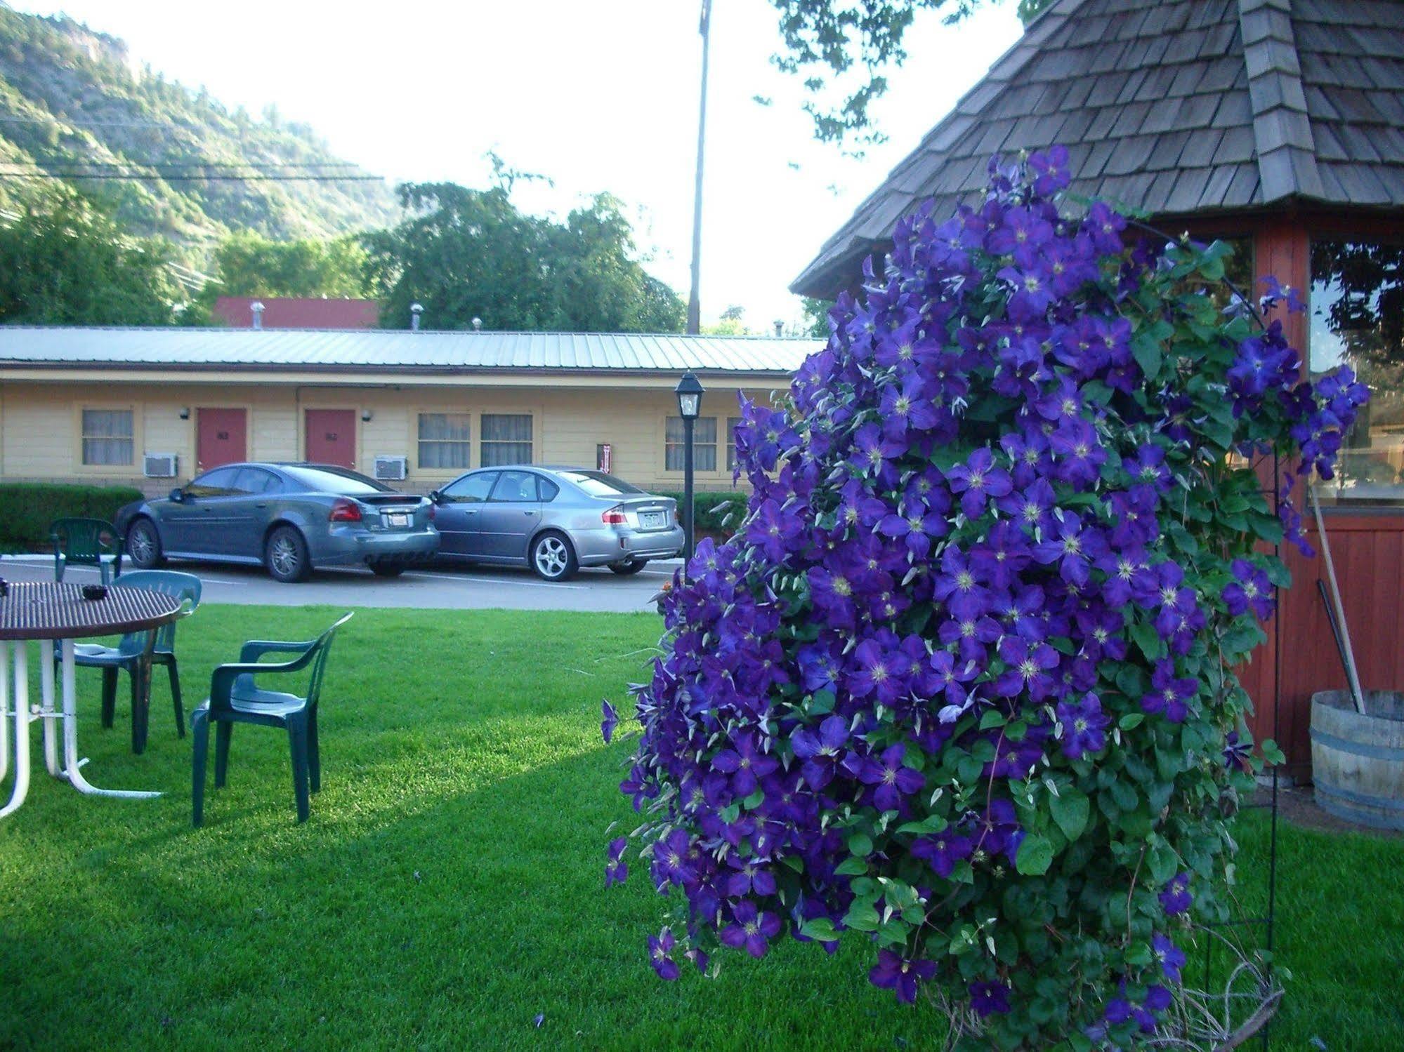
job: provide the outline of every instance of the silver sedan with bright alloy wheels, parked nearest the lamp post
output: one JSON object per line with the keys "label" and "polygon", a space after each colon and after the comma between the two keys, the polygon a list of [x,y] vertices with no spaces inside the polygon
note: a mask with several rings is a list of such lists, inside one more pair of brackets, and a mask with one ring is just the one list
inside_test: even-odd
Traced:
{"label": "silver sedan with bright alloy wheels, parked nearest the lamp post", "polygon": [[528,565],[546,581],[580,567],[637,574],[682,551],[677,501],[584,467],[483,467],[430,499],[441,555]]}

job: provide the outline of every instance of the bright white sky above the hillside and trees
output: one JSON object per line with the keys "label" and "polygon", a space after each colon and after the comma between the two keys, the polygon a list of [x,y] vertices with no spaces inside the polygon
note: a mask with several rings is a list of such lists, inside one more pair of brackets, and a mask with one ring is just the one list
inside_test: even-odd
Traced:
{"label": "bright white sky above the hillside and trees", "polygon": [[[333,153],[395,182],[484,187],[489,150],[553,185],[518,206],[564,216],[608,191],[647,268],[687,299],[699,0],[11,0],[121,36],[138,60],[226,107],[275,104]],[[1019,36],[1014,0],[958,27],[922,13],[875,108],[889,142],[861,160],[813,137],[768,0],[713,0],[702,317],[799,318],[788,285],[824,240]],[[754,101],[771,100],[769,105]]]}

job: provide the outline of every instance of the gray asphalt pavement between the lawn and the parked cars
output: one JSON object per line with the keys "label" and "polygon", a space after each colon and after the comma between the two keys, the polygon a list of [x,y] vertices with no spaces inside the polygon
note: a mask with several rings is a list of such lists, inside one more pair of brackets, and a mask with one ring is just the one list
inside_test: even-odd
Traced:
{"label": "gray asphalt pavement between the lawn and the parked cars", "polygon": [[[497,567],[455,568],[444,565],[410,569],[395,579],[382,579],[368,569],[319,569],[309,581],[278,584],[261,567],[215,562],[170,562],[205,582],[201,602],[257,605],[327,606],[417,606],[423,609],[476,610],[590,610],[628,613],[651,610],[649,599],[680,560],[650,562],[633,576],[608,569],[581,569],[573,581],[549,584],[528,569]],[[0,576],[7,581],[52,581],[52,555],[7,555],[0,560]],[[97,581],[97,571],[72,567],[65,579]]]}

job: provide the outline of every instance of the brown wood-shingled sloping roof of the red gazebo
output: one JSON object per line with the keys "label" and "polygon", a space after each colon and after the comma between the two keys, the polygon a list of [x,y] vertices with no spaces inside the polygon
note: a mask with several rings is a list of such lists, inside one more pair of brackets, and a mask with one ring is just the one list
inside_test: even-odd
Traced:
{"label": "brown wood-shingled sloping roof of the red gazebo", "polygon": [[1404,206],[1404,3],[1057,0],[790,289],[831,296],[896,220],[986,166],[1068,147],[1073,192],[1158,216]]}

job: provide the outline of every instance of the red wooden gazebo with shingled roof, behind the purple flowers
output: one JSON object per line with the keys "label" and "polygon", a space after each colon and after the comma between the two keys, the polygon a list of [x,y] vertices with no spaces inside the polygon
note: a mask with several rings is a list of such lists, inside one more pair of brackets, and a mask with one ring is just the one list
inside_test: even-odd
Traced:
{"label": "red wooden gazebo with shingled roof, behind the purple flowers", "polygon": [[[1404,689],[1404,4],[1057,0],[858,208],[790,286],[856,288],[894,222],[973,199],[993,154],[1061,143],[1071,192],[1160,230],[1236,244],[1236,278],[1307,290],[1287,324],[1311,370],[1370,386],[1342,471],[1318,490],[1366,689]],[[1247,289],[1245,289],[1247,290]],[[1311,536],[1309,533],[1309,536]],[[1344,689],[1316,589],[1294,588],[1244,682],[1255,734],[1310,764],[1310,696]]]}

